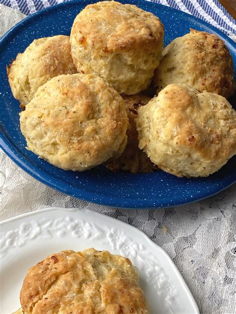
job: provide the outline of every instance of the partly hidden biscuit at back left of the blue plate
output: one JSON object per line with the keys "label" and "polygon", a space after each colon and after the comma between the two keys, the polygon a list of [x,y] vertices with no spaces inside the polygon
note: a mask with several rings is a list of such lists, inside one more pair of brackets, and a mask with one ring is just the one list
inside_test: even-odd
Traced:
{"label": "partly hidden biscuit at back left of the blue plate", "polygon": [[69,36],[35,39],[16,60],[7,67],[7,76],[13,96],[27,104],[39,86],[61,74],[77,70],[71,58]]}

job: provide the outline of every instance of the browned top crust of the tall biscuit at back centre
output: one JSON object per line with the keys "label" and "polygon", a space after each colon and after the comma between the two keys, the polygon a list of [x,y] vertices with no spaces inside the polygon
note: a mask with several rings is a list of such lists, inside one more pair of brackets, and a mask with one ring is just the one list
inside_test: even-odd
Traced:
{"label": "browned top crust of the tall biscuit at back centre", "polygon": [[[101,20],[106,21],[105,27],[99,26]],[[162,41],[163,31],[164,26],[152,13],[117,1],[87,5],[77,15],[72,27],[78,42],[82,40],[84,44],[89,39],[104,53],[143,47],[156,50]]]}

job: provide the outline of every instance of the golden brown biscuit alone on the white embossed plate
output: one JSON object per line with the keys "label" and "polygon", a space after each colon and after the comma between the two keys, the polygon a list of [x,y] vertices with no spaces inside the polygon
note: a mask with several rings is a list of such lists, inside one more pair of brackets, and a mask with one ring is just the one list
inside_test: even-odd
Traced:
{"label": "golden brown biscuit alone on the white embossed plate", "polygon": [[29,269],[20,303],[27,314],[148,314],[128,258],[94,248],[48,256]]}

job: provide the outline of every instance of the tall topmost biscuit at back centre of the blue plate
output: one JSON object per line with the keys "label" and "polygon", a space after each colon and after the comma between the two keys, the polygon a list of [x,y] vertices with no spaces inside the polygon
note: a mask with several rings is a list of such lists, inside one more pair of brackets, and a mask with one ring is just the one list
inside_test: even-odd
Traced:
{"label": "tall topmost biscuit at back centre of the blue plate", "polygon": [[119,94],[135,94],[151,82],[163,35],[159,18],[136,5],[90,4],[74,20],[72,58],[78,72],[99,75]]}

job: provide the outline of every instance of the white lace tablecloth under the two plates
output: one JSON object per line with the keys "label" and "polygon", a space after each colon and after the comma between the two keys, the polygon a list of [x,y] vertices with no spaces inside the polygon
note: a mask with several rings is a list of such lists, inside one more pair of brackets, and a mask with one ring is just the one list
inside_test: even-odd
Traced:
{"label": "white lace tablecloth under the two plates", "polygon": [[[0,4],[0,36],[23,17]],[[56,192],[0,151],[0,220],[53,206],[88,208],[142,230],[173,259],[200,313],[236,313],[236,185],[176,208],[114,209]]]}

